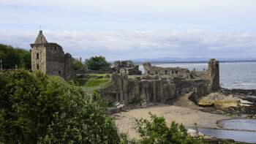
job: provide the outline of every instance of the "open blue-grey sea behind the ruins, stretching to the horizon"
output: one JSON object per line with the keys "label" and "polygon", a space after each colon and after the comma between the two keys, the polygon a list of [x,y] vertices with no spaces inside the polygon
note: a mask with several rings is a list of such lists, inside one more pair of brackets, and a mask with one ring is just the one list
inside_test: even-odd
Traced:
{"label": "open blue-grey sea behind the ruins, stretching to the horizon", "polygon": [[[196,71],[208,69],[207,63],[155,65],[157,67],[182,67],[190,71],[194,68]],[[145,72],[143,65],[140,65],[140,70]],[[220,63],[219,79],[222,88],[256,89],[256,62]]]}

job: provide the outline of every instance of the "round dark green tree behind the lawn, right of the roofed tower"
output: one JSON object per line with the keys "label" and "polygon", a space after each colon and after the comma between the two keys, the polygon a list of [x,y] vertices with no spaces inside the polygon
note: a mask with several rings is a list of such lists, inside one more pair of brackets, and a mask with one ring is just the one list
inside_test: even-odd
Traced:
{"label": "round dark green tree behind the lawn, right of the roofed tower", "polygon": [[86,58],[85,64],[88,67],[88,69],[91,70],[99,70],[103,67],[111,66],[111,64],[106,61],[105,56],[92,56],[89,59]]}

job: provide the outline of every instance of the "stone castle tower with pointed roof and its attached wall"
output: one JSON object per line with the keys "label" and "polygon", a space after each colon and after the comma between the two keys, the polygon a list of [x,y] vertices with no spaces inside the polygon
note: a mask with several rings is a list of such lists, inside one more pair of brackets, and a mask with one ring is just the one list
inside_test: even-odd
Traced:
{"label": "stone castle tower with pointed roof and its attached wall", "polygon": [[39,31],[37,39],[31,45],[31,69],[40,70],[46,75],[58,75],[64,80],[75,79],[72,56],[64,54],[61,45],[47,42],[42,31]]}

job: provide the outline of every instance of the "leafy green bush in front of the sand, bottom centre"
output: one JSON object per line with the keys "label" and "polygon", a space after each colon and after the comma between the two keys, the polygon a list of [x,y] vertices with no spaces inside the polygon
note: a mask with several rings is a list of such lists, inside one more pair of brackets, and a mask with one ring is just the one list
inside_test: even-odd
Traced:
{"label": "leafy green bush in front of the sand, bottom centre", "polygon": [[187,134],[187,129],[182,124],[178,125],[173,121],[169,128],[164,117],[157,117],[151,112],[148,114],[151,115],[151,121],[143,118],[135,120],[137,132],[142,137],[138,143],[201,143],[201,140]]}

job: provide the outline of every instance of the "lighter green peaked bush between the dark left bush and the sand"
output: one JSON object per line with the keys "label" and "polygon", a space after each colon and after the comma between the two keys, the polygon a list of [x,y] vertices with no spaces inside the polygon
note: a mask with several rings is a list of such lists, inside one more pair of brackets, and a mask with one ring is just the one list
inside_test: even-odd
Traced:
{"label": "lighter green peaked bush between the dark left bush and the sand", "polygon": [[[71,92],[72,91],[72,92]],[[61,99],[61,111],[55,113],[42,143],[119,143],[113,118],[75,85]]]}

